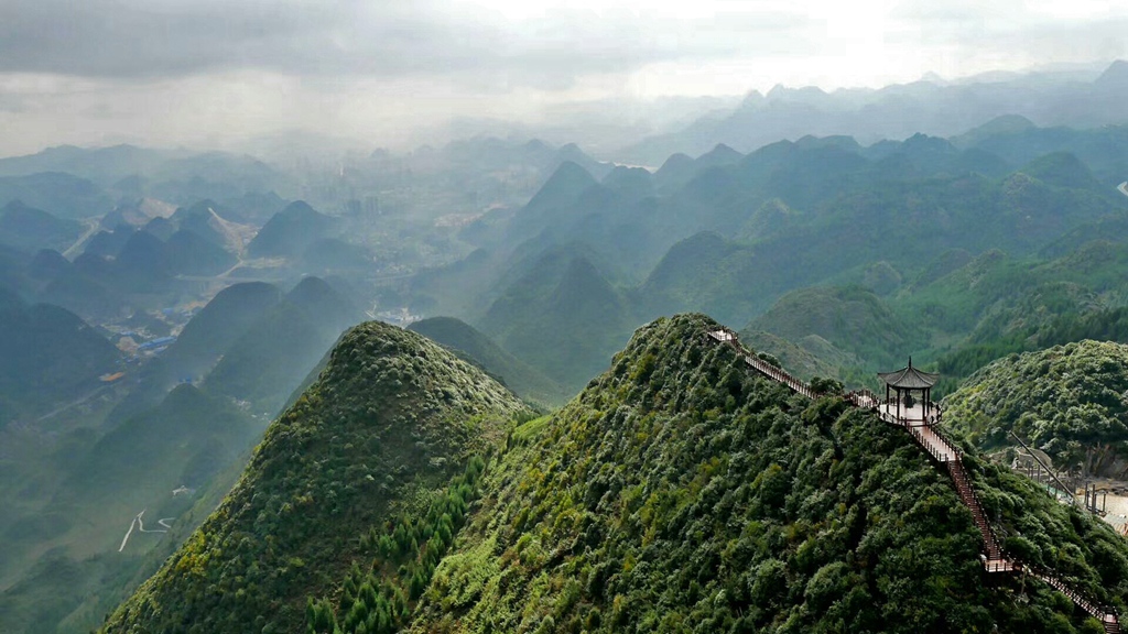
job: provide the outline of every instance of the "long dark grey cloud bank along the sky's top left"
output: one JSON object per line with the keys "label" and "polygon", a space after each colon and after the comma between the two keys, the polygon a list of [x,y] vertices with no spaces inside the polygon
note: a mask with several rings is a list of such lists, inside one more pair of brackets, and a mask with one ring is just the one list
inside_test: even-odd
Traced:
{"label": "long dark grey cloud bank along the sky's top left", "polygon": [[[588,73],[733,55],[801,25],[786,10],[695,19],[466,2],[18,0],[0,6],[0,72],[151,80],[257,69],[309,77],[481,76],[561,88]],[[503,81],[500,81],[501,78]]]}

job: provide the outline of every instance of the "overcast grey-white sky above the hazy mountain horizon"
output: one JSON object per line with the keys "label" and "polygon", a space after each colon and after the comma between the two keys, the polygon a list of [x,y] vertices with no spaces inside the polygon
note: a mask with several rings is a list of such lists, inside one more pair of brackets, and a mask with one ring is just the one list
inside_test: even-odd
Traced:
{"label": "overcast grey-white sky above the hazy mountain horizon", "polygon": [[1122,0],[0,0],[0,156],[1128,58]]}

